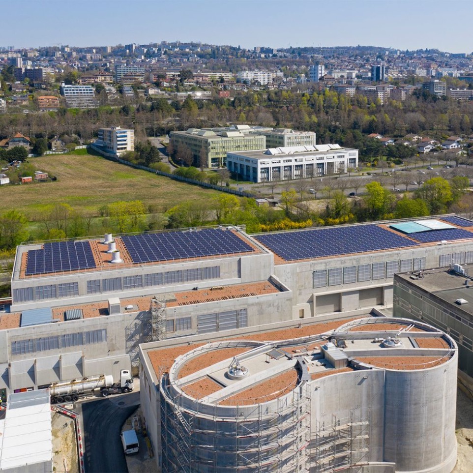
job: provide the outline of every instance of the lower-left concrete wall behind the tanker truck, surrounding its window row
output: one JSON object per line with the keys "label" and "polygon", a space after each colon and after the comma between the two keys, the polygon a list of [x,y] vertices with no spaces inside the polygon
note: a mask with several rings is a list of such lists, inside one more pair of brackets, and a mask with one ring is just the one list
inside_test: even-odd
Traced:
{"label": "lower-left concrete wall behind the tanker truck, surrounding its window row", "polygon": [[[96,329],[107,330],[105,341],[12,355],[13,341],[29,343],[30,340],[71,336]],[[7,391],[23,387],[37,388],[38,385],[97,374],[111,374],[118,381],[120,370],[131,370],[132,366],[137,369],[139,344],[149,340],[149,312],[2,330],[0,388],[6,388]]]}

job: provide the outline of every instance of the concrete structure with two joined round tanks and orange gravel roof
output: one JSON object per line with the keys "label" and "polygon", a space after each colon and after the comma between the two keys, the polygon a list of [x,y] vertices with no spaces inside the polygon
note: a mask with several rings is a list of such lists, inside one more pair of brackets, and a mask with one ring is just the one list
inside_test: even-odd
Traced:
{"label": "concrete structure with two joined round tanks and orange gravel roof", "polygon": [[142,345],[141,407],[163,472],[450,473],[453,339],[397,318],[320,328]]}

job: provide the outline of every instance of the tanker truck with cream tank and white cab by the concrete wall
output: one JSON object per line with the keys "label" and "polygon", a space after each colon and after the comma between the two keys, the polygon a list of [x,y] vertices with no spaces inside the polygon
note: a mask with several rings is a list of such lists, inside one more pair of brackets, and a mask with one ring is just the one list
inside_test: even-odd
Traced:
{"label": "tanker truck with cream tank and white cab by the concrete wall", "polygon": [[112,375],[97,375],[89,378],[75,379],[53,383],[49,387],[51,403],[77,401],[81,396],[92,394],[100,389],[101,396],[133,391],[133,378],[129,370],[120,371],[120,381],[115,383]]}

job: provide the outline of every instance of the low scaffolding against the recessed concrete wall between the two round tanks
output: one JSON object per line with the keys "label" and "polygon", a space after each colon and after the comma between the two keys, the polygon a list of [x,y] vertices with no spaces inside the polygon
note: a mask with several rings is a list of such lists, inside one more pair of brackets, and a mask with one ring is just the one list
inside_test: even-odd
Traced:
{"label": "low scaffolding against the recessed concrete wall between the two round tanks", "polygon": [[343,467],[369,463],[370,412],[362,417],[359,410],[348,417],[332,415],[332,422],[316,423],[311,439],[311,461],[314,473],[328,473]]}

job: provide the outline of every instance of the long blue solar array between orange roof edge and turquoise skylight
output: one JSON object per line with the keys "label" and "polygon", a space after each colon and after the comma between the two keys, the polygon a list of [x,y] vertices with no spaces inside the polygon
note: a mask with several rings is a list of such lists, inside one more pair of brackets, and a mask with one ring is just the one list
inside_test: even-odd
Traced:
{"label": "long blue solar array between orange roof edge and turquoise skylight", "polygon": [[418,245],[377,225],[274,233],[255,238],[286,261]]}

